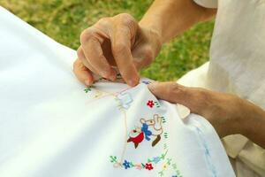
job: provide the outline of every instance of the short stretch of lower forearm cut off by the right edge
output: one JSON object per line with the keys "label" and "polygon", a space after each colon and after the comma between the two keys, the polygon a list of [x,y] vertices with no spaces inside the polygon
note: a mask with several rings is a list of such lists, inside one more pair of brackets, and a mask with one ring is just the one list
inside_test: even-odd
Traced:
{"label": "short stretch of lower forearm cut off by the right edge", "polygon": [[244,115],[241,119],[242,135],[265,148],[265,111],[246,101],[243,112]]}

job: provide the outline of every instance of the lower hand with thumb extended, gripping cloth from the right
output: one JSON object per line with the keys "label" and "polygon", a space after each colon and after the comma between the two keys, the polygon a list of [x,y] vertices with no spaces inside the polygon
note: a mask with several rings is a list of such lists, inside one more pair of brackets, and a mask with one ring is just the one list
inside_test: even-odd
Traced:
{"label": "lower hand with thumb extended, gripping cloth from the right", "polygon": [[[176,82],[155,82],[149,84],[148,88],[158,98],[174,104],[183,104],[191,112],[208,119],[220,137],[233,134],[251,136],[251,130],[248,127],[255,125],[248,119],[251,119],[250,115],[254,114],[256,106],[238,96],[208,89],[188,88]],[[259,117],[262,117],[261,114]],[[260,123],[263,122],[263,126],[265,126],[264,119],[259,120]],[[261,144],[265,143],[264,139],[264,137],[260,138]]]}

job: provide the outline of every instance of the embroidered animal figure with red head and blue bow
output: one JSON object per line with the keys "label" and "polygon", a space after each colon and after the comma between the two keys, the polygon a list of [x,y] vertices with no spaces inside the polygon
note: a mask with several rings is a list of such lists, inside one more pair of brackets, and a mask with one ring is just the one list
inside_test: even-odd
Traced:
{"label": "embroidered animal figure with red head and blue bow", "polygon": [[150,136],[152,135],[155,136],[155,140],[152,142],[154,147],[161,140],[161,135],[163,134],[162,118],[155,114],[153,119],[140,119],[140,123],[142,127],[133,129],[127,142],[133,142],[136,149],[144,139],[150,141]]}

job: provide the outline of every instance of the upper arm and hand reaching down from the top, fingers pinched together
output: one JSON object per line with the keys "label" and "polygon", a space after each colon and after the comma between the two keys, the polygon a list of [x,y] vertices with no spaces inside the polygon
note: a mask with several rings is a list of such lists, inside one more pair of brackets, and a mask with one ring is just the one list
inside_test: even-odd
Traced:
{"label": "upper arm and hand reaching down from the top, fingers pinched together", "polygon": [[115,81],[112,66],[117,66],[126,83],[134,86],[137,71],[155,59],[163,42],[215,13],[193,0],[155,0],[140,23],[125,13],[102,18],[80,35],[73,71],[79,81],[91,85],[95,75]]}

